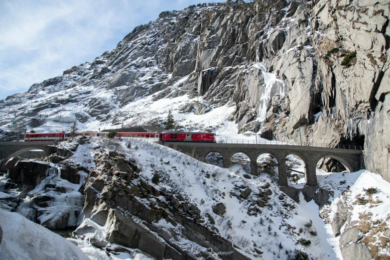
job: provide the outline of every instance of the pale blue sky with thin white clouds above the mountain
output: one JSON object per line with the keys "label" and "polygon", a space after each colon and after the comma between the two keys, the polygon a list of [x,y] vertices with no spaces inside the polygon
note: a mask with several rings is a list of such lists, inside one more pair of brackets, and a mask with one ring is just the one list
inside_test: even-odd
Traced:
{"label": "pale blue sky with thin white clouds above the mountain", "polygon": [[0,99],[114,49],[161,11],[224,0],[1,0]]}

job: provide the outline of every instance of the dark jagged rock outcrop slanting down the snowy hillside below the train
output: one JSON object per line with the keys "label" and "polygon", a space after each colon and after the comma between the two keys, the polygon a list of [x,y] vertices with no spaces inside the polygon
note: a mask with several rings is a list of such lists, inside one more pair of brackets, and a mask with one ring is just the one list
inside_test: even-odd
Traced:
{"label": "dark jagged rock outcrop slanting down the snowy hillside below the train", "polygon": [[[115,243],[138,248],[161,260],[197,259],[193,250],[181,247],[183,236],[198,245],[195,251],[205,257],[208,252],[202,248],[211,249],[222,259],[247,259],[218,235],[210,215],[202,214],[180,193],[149,184],[138,176],[139,169],[130,160],[105,152],[97,154],[95,162],[97,167],[83,186],[83,221],[75,231],[93,245],[108,247]],[[222,211],[225,213],[226,207]],[[154,224],[161,221],[174,228]]]}

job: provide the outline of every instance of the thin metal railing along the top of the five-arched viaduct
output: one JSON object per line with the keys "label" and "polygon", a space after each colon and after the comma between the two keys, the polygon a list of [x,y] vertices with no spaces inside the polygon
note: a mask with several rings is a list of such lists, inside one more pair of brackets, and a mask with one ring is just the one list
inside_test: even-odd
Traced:
{"label": "thin metal railing along the top of the five-arched viaduct", "polygon": [[[172,140],[172,142],[189,142],[188,140]],[[195,141],[195,142],[208,142],[210,141]],[[277,145],[297,145],[297,146],[311,146],[311,147],[324,147],[324,148],[338,148],[349,150],[364,150],[364,146],[349,145],[349,144],[337,144],[336,146],[329,146],[326,143],[318,142],[296,142],[296,141],[270,141],[270,140],[244,140],[244,139],[220,139],[216,140],[216,143],[229,143],[229,144],[277,144]]]}

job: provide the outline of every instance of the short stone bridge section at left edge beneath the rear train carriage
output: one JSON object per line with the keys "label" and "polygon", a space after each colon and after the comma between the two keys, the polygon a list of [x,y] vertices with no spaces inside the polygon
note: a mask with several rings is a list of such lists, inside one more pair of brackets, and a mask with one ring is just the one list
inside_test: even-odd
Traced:
{"label": "short stone bridge section at left edge beneath the rear train carriage", "polygon": [[0,142],[0,160],[10,157],[41,157],[43,152],[31,152],[31,150],[43,150],[45,145],[53,145],[54,141],[34,142]]}

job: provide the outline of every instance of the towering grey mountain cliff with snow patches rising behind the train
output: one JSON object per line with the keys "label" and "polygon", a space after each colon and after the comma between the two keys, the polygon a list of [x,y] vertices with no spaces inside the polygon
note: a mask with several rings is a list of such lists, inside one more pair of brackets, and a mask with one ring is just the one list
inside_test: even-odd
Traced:
{"label": "towering grey mountain cliff with snow patches rising behind the train", "polygon": [[29,129],[28,115],[47,113],[89,130],[141,125],[165,115],[155,104],[183,97],[178,112],[235,106],[239,132],[364,145],[367,169],[389,181],[389,3],[227,0],[162,12],[115,50],[8,97],[1,124],[12,130],[16,113]]}

